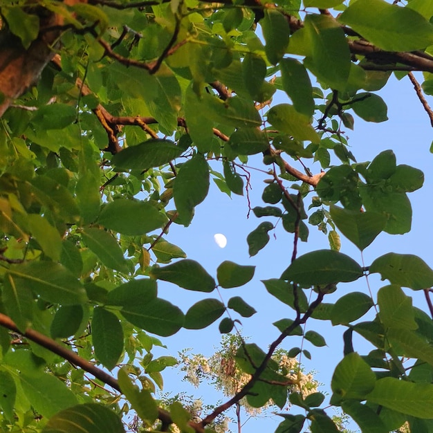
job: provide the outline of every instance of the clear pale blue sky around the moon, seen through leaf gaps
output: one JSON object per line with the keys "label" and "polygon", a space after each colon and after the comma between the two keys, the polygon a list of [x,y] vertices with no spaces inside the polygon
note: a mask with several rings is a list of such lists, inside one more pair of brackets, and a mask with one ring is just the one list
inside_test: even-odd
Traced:
{"label": "clear pale blue sky around the moon, seen through leaf gaps", "polygon": [[[433,232],[430,226],[430,215],[433,210],[430,202],[433,189],[432,155],[429,151],[433,134],[430,121],[407,77],[400,82],[391,77],[385,89],[380,91],[379,94],[387,103],[389,120],[375,124],[365,122],[354,115],[355,130],[346,131],[349,136],[351,151],[358,162],[362,162],[372,160],[380,151],[393,149],[398,164],[407,164],[423,170],[425,183],[421,190],[409,194],[413,208],[412,231],[403,236],[380,234],[376,241],[364,252],[365,266],[371,264],[371,261],[376,257],[392,251],[418,255],[433,268],[433,258],[429,248]],[[274,100],[274,103],[278,102],[286,101]],[[288,161],[302,170],[299,163],[290,160],[290,158],[288,158]],[[319,163],[313,164],[312,160],[304,160],[304,163],[311,169],[313,174],[320,172]],[[254,158],[250,160],[249,165],[263,167],[260,160],[255,163]],[[220,171],[222,172],[222,167]],[[270,176],[264,176],[255,170],[250,170],[250,173],[252,175],[251,205],[252,207],[264,205],[263,201],[261,201],[261,193],[265,186],[263,180],[264,178],[270,178]],[[308,199],[306,199],[305,203],[306,207],[308,207]],[[216,268],[224,260],[231,260],[242,265],[256,266],[255,277],[252,282],[241,288],[220,290],[225,302],[228,302],[230,297],[234,295],[240,295],[257,310],[257,313],[252,317],[241,319],[243,335],[250,336],[251,342],[256,342],[262,349],[266,350],[268,344],[273,342],[278,335],[278,331],[272,323],[285,317],[293,318],[294,313],[291,308],[284,306],[284,304],[269,295],[260,280],[279,277],[290,264],[293,235],[285,232],[280,223],[275,232],[270,232],[271,239],[268,246],[255,257],[250,258],[248,256],[246,237],[260,222],[266,221],[266,218],[257,219],[251,212],[249,219],[247,219],[247,214],[248,203],[245,196],[232,194],[232,198],[229,198],[219,192],[214,183],[211,183],[210,193],[205,201],[196,208],[196,214],[190,227],[183,228],[180,225],[172,225],[167,240],[181,246],[187,253],[188,258],[199,261],[208,270],[208,273],[213,276],[216,276]],[[269,221],[274,220],[269,219]],[[308,243],[300,242],[298,244],[298,256],[311,250],[329,248],[327,237],[322,232],[318,232],[311,225],[308,225],[308,228],[310,230]],[[215,233],[225,234],[228,239],[225,248],[221,249],[216,246],[213,239]],[[276,239],[273,234],[275,234]],[[341,251],[362,264],[359,250],[344,237],[342,237]],[[369,283],[374,298],[378,289],[387,284],[386,282],[380,282],[378,275],[371,275]],[[173,284],[164,282],[159,282],[158,287],[160,297],[180,305],[183,311],[187,311],[187,308],[201,299],[218,297],[216,293],[188,292]],[[339,284],[338,290],[333,295],[326,297],[325,302],[333,302],[349,291],[369,293],[366,281],[362,278],[351,284]],[[414,297],[414,304],[426,310],[423,293],[410,291],[409,289],[405,289],[405,293]],[[194,353],[212,354],[220,340],[218,323],[219,321],[202,331],[182,330],[171,338],[167,338],[164,342],[168,346],[168,351],[165,351],[164,354],[176,356],[176,352],[185,347],[191,347]],[[311,361],[305,358],[302,361],[307,371],[315,369],[317,371],[315,376],[317,380],[326,384],[322,390],[330,392],[329,384],[333,369],[342,359],[342,332],[344,329],[342,326],[333,328],[326,322],[316,320],[307,322],[306,330],[308,329],[322,333],[326,339],[327,347],[317,349],[309,342],[305,342],[304,348],[311,351],[313,358]],[[354,344],[355,350],[360,354],[367,354],[370,350],[369,345],[361,338],[354,340]],[[291,349],[291,347],[299,345],[299,338],[288,338],[284,341],[282,347]],[[199,392],[194,391],[194,389],[181,382],[181,375],[174,372],[164,372],[164,376],[165,391],[174,391],[176,393],[185,390],[188,393],[203,396],[206,403],[215,403],[215,394],[212,390],[201,388]],[[176,383],[177,381],[178,383]],[[272,429],[275,430],[277,423],[280,421],[282,421],[282,418],[278,417],[274,421],[269,419],[264,421],[252,420],[243,427],[243,432],[259,432],[265,426],[266,430],[273,431]]]}

